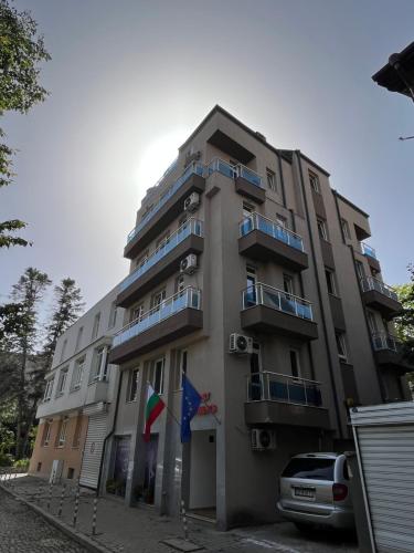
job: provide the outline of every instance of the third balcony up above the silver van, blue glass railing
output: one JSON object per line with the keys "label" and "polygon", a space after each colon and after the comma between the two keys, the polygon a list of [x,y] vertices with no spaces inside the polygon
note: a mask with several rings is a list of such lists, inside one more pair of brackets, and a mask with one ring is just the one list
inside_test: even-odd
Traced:
{"label": "third balcony up above the silver van, blue glass railing", "polygon": [[259,261],[270,259],[294,271],[308,268],[301,237],[259,213],[240,223],[238,252]]}

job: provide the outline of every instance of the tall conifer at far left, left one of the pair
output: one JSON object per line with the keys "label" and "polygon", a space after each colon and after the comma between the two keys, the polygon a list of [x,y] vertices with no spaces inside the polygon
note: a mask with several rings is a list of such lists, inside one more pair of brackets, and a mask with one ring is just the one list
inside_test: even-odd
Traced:
{"label": "tall conifer at far left, left one of the pair", "polygon": [[12,349],[19,358],[17,389],[17,437],[15,457],[24,456],[24,448],[31,429],[29,361],[33,361],[38,342],[38,306],[44,291],[51,284],[46,273],[30,267],[13,285],[12,298],[21,304],[22,325],[10,338]]}

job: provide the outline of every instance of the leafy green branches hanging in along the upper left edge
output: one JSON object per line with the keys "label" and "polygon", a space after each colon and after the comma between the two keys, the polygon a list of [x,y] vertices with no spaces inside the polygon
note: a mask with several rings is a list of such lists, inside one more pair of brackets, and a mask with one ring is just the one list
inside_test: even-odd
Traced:
{"label": "leafy green branches hanging in along the upper left edge", "polygon": [[[44,101],[47,92],[39,84],[39,64],[50,59],[31,14],[18,12],[7,0],[0,0],[0,116],[7,111],[24,114]],[[3,138],[0,128],[0,188],[10,185],[14,176],[13,149]],[[28,246],[26,240],[13,236],[25,226],[19,219],[0,222],[0,248]]]}

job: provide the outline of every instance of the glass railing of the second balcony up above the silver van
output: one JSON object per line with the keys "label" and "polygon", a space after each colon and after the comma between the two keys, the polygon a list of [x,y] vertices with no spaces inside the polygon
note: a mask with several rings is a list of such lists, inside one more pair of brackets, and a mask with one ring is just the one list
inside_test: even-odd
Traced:
{"label": "glass railing of the second balcony up above the silver van", "polygon": [[265,305],[266,307],[283,311],[289,315],[314,321],[310,302],[268,284],[258,283],[243,290],[243,309],[245,310],[255,305]]}

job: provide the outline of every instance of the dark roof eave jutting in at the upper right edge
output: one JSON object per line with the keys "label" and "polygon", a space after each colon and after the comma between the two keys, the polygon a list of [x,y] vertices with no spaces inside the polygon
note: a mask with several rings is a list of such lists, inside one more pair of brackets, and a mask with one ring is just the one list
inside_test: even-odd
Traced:
{"label": "dark roof eave jutting in at the upper right edge", "polygon": [[402,52],[391,54],[386,63],[372,80],[391,92],[408,96],[414,102],[414,42]]}

